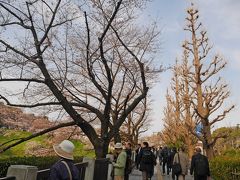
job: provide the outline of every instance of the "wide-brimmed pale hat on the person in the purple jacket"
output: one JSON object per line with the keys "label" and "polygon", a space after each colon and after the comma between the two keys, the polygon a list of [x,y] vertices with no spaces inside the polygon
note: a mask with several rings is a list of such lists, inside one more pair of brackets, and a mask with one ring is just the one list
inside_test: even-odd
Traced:
{"label": "wide-brimmed pale hat on the person in the purple jacket", "polygon": [[73,150],[75,146],[69,140],[63,140],[58,145],[53,145],[54,151],[62,158],[73,160]]}

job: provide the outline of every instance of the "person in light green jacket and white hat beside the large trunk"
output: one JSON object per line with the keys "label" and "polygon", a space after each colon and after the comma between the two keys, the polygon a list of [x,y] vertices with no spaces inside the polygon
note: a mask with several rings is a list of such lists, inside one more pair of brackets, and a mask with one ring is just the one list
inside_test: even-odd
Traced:
{"label": "person in light green jacket and white hat beside the large trunk", "polygon": [[116,163],[113,162],[114,180],[124,180],[124,170],[126,166],[127,153],[123,150],[122,143],[116,143],[115,151],[118,154]]}

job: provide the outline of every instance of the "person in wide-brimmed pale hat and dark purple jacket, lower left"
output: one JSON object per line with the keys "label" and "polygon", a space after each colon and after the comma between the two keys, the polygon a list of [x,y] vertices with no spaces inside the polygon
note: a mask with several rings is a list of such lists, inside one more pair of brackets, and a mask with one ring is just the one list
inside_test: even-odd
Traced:
{"label": "person in wide-brimmed pale hat and dark purple jacket, lower left", "polygon": [[69,140],[53,146],[61,159],[50,168],[49,180],[80,180],[79,170],[73,164],[74,148],[74,144]]}

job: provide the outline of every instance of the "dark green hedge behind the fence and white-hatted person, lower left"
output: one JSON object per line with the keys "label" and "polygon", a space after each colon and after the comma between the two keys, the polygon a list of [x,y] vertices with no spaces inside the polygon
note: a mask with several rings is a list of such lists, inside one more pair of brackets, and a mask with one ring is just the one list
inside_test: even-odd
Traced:
{"label": "dark green hedge behind the fence and white-hatted person, lower left", "polygon": [[[75,162],[81,162],[82,157],[74,157]],[[0,159],[0,177],[5,177],[7,174],[7,169],[10,165],[32,165],[37,166],[39,170],[48,169],[59,157],[49,156],[49,157],[12,157],[7,159]]]}

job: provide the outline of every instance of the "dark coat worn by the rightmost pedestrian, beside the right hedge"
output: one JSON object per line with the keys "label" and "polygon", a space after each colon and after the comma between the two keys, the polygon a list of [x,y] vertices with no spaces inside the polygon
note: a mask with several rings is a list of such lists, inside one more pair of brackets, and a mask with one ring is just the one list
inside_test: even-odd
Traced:
{"label": "dark coat worn by the rightmost pedestrian, beside the right hedge", "polygon": [[210,176],[210,169],[209,169],[209,162],[206,156],[197,153],[195,155],[192,156],[192,161],[191,161],[191,168],[190,168],[190,174],[193,174],[194,172],[194,179],[198,180],[200,177],[198,177],[198,169],[197,169],[197,163],[198,163],[198,159],[202,158],[205,162],[205,175],[201,176],[202,179],[206,179],[207,176]]}

